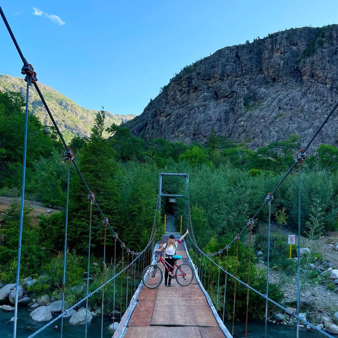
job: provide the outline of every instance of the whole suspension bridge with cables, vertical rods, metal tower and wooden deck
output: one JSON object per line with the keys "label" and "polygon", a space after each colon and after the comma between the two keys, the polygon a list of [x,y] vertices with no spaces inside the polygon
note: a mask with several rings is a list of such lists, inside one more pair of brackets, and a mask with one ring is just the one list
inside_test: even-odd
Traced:
{"label": "whole suspension bridge with cables, vertical rods, metal tower and wooden deck", "polygon": [[[23,174],[22,174],[22,195],[21,195],[21,209],[20,209],[20,227],[19,227],[19,245],[18,245],[18,259],[17,259],[17,273],[16,273],[16,295],[15,295],[15,314],[13,323],[13,337],[17,337],[17,322],[20,318],[18,315],[18,288],[19,288],[19,276],[20,276],[20,258],[21,258],[21,243],[22,243],[22,231],[23,231],[23,207],[24,207],[24,193],[25,193],[25,168],[26,168],[26,147],[27,147],[27,119],[28,119],[28,98],[31,85],[34,86],[38,92],[44,107],[46,108],[47,114],[51,119],[58,136],[61,139],[65,147],[65,158],[68,162],[68,174],[67,174],[67,198],[66,198],[66,219],[65,219],[65,241],[64,241],[64,264],[63,264],[63,287],[62,287],[62,309],[61,314],[50,320],[46,325],[36,332],[30,334],[28,338],[40,335],[41,337],[46,336],[47,328],[51,327],[54,323],[60,325],[60,336],[66,337],[63,332],[64,317],[70,310],[77,308],[80,305],[85,305],[86,309],[86,320],[83,331],[84,337],[87,337],[87,317],[90,315],[88,310],[88,299],[94,294],[102,293],[102,304],[101,304],[101,338],[103,337],[103,314],[104,314],[104,302],[105,287],[108,284],[113,285],[113,324],[115,320],[116,304],[119,304],[119,310],[125,309],[124,314],[119,322],[118,328],[115,330],[113,337],[158,337],[159,335],[166,335],[168,337],[188,336],[188,337],[226,337],[231,338],[234,335],[235,326],[235,307],[236,307],[236,287],[242,285],[247,289],[246,295],[246,327],[245,337],[248,332],[248,304],[250,293],[256,293],[265,300],[265,337],[267,336],[267,318],[268,318],[268,303],[270,302],[274,306],[285,311],[289,315],[293,315],[297,318],[296,325],[296,337],[299,337],[299,323],[305,323],[309,327],[317,330],[323,336],[334,338],[327,331],[315,327],[312,323],[300,317],[300,259],[298,257],[297,265],[297,308],[296,311],[291,312],[281,304],[276,303],[269,297],[269,252],[270,252],[270,220],[271,220],[271,203],[273,202],[273,195],[283,184],[286,177],[294,170],[298,170],[298,238],[300,238],[300,202],[301,202],[301,165],[306,159],[306,151],[312,144],[316,136],[319,134],[324,125],[328,122],[332,114],[338,107],[338,102],[333,106],[332,110],[324,118],[323,122],[306,144],[305,147],[300,149],[296,156],[295,162],[291,165],[289,170],[285,173],[281,181],[271,189],[271,192],[267,192],[266,198],[262,201],[261,207],[253,212],[253,216],[248,219],[247,223],[244,224],[239,234],[233,234],[233,240],[227,244],[224,248],[212,254],[206,254],[201,248],[199,248],[197,241],[194,236],[194,228],[196,224],[192,224],[190,216],[190,204],[189,204],[189,187],[188,187],[188,175],[185,173],[161,173],[159,180],[159,193],[156,206],[154,206],[154,221],[149,237],[148,244],[145,248],[136,252],[132,248],[128,248],[123,240],[119,237],[118,233],[115,232],[113,226],[109,223],[108,218],[103,214],[95,199],[95,192],[91,191],[90,187],[86,183],[86,178],[83,177],[79,167],[76,164],[74,153],[72,149],[66,144],[56,121],[53,118],[52,112],[50,111],[42,92],[39,89],[37,83],[37,74],[31,64],[29,64],[24,57],[18,42],[15,39],[13,31],[11,30],[8,21],[0,7],[0,14],[3,22],[9,32],[11,39],[19,53],[19,56],[23,62],[21,73],[25,75],[27,82],[26,90],[26,110],[25,110],[25,136],[23,146]],[[90,204],[90,215],[89,215],[89,233],[88,233],[88,266],[87,276],[89,276],[89,264],[91,254],[91,224],[92,224],[92,208],[97,208],[102,217],[102,226],[104,227],[104,244],[103,244],[103,278],[102,284],[96,290],[89,292],[89,278],[87,278],[86,296],[80,299],[76,304],[66,308],[65,304],[65,281],[66,281],[66,260],[67,260],[67,225],[68,225],[68,201],[69,201],[69,183],[70,183],[70,166],[73,165],[79,174],[83,185],[88,191],[88,195],[83,196],[84,199],[88,199]],[[162,193],[162,176],[163,175],[175,175],[184,176],[186,179],[186,191],[184,195],[168,195]],[[161,198],[164,197],[183,197],[186,199],[186,228],[189,230],[187,237],[177,247],[177,254],[182,256],[184,263],[190,264],[193,269],[194,278],[193,282],[188,286],[178,286],[173,283],[173,287],[165,288],[160,285],[155,289],[148,289],[142,282],[142,271],[146,266],[156,262],[154,257],[154,249],[158,248],[160,243],[166,242],[168,237],[164,235],[162,237],[161,229],[158,224],[158,215],[161,213]],[[250,248],[251,248],[251,230],[254,225],[257,215],[263,208],[268,208],[269,212],[269,223],[268,223],[268,250],[267,250],[267,284],[266,292],[263,294],[253,287],[250,286]],[[244,231],[249,233],[249,255],[248,255],[248,269],[247,269],[247,280],[241,281],[237,277],[237,266],[238,266],[238,243],[241,239]],[[113,255],[113,276],[109,279],[105,276],[105,259],[106,259],[106,234],[112,232],[114,234],[114,255]],[[236,261],[235,261],[235,273],[231,274],[228,272],[228,257],[229,249],[231,247],[236,248]],[[300,243],[298,241],[298,250]],[[118,249],[118,253],[117,253]],[[299,256],[299,255],[298,255]],[[225,257],[225,267],[221,264],[221,257]],[[118,262],[120,266],[118,267]],[[225,318],[225,295],[227,292],[227,285],[233,283],[234,294],[233,294],[233,313],[232,313],[232,325],[226,328],[224,325]],[[119,286],[119,288],[117,288]],[[126,294],[122,297],[122,286],[125,286]],[[117,291],[119,290],[119,291]],[[209,293],[206,291],[209,290]],[[210,291],[211,290],[211,291]],[[211,293],[211,294],[210,294]],[[223,303],[223,304],[222,304]],[[171,308],[171,305],[175,304],[175,307]],[[98,336],[98,335],[96,335]]]}

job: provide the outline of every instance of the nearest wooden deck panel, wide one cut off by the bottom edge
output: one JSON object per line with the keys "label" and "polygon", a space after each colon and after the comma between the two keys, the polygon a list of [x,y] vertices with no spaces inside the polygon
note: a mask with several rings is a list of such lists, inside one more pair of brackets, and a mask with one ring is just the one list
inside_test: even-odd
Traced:
{"label": "nearest wooden deck panel, wide one cut off by the bottom edge", "polygon": [[146,326],[146,327],[128,327],[125,338],[201,338],[198,327],[163,327],[163,326]]}

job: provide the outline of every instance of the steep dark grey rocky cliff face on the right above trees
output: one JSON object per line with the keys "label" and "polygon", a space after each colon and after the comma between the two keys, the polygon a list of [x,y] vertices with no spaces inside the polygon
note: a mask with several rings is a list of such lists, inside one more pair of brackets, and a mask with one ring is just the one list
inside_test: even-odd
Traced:
{"label": "steep dark grey rocky cliff face on the right above trees", "polygon": [[[206,143],[211,129],[251,148],[298,134],[306,143],[338,100],[338,25],[225,47],[185,67],[125,125],[144,138]],[[338,144],[338,113],[318,143]]]}

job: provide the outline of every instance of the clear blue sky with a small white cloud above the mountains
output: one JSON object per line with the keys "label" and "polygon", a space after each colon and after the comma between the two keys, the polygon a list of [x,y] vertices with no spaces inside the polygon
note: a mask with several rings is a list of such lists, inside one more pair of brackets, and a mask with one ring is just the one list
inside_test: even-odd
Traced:
{"label": "clear blue sky with a small white cloud above the mountains", "polygon": [[[290,27],[338,23],[338,2],[21,1],[0,5],[41,83],[80,106],[141,114],[175,72],[234,44]],[[2,20],[1,20],[2,21]],[[1,74],[21,59],[0,22]]]}

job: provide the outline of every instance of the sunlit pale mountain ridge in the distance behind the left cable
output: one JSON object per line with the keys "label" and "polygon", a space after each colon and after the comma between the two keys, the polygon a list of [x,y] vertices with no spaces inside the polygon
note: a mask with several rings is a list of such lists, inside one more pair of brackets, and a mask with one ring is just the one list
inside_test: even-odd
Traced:
{"label": "sunlit pale mountain ridge in the distance behind the left cable", "polygon": [[[39,82],[39,88],[53,114],[53,117],[62,132],[70,131],[80,137],[89,137],[97,111],[80,107],[67,96],[57,92],[55,89]],[[6,74],[0,74],[0,90],[20,92],[26,95],[26,82],[24,79]],[[42,124],[51,126],[49,116],[34,88],[29,94],[29,112],[36,115]],[[136,116],[136,114],[117,115],[106,112],[105,125],[112,123],[121,124]]]}

